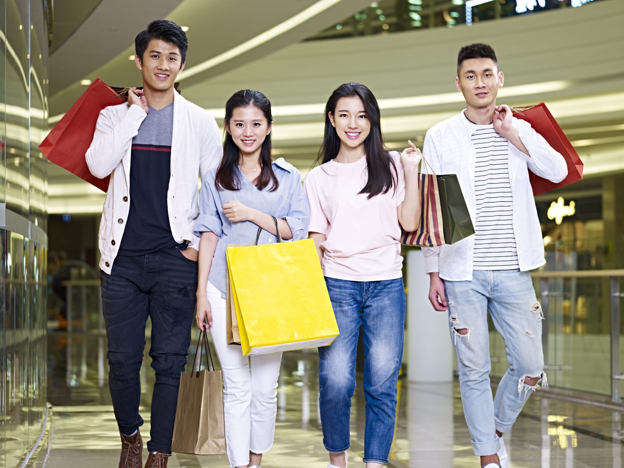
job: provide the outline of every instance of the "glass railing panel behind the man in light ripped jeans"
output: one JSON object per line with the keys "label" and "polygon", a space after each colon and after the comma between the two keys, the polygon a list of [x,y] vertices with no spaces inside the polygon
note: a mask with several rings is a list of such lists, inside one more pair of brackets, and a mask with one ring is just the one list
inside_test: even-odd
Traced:
{"label": "glass railing panel behind the man in light ripped jeans", "polygon": [[[552,388],[622,402],[624,270],[535,271],[542,304],[545,372]],[[492,376],[507,370],[505,344],[490,324]]]}

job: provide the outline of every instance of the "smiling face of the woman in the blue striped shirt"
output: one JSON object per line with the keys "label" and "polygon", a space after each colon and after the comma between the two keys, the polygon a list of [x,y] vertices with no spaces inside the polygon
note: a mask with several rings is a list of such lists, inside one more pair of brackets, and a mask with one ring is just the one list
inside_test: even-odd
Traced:
{"label": "smiling face of the woman in the blue striped shirt", "polygon": [[264,112],[255,105],[236,107],[232,112],[232,119],[225,125],[225,130],[232,135],[234,144],[241,154],[260,154],[266,135],[271,133],[273,122],[266,120]]}

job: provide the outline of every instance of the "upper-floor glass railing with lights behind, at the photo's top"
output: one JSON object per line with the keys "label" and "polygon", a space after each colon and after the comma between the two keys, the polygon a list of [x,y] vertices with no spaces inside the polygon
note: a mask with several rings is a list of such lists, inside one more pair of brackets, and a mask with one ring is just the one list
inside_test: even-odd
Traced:
{"label": "upper-floor glass railing with lights behind, at the photo's top", "polygon": [[[381,0],[346,17],[308,41],[369,36],[579,7],[604,0]],[[619,0],[618,0],[619,1]]]}

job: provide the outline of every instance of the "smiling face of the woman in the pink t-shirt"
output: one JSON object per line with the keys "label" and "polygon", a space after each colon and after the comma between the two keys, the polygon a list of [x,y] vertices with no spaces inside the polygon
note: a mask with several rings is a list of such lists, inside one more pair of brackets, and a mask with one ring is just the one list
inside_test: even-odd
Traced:
{"label": "smiling face of the woman in the pink t-shirt", "polygon": [[329,112],[329,120],[336,129],[341,143],[351,148],[363,145],[371,132],[371,122],[364,110],[364,103],[359,97],[338,99],[336,111]]}

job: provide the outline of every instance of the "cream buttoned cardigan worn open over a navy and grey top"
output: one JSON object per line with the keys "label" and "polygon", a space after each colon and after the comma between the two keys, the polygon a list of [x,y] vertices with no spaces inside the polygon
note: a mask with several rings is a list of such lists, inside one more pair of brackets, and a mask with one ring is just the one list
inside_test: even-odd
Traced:
{"label": "cream buttoned cardigan worn open over a navy and grey top", "polygon": [[[193,234],[197,207],[197,178],[220,162],[223,154],[221,136],[214,117],[205,109],[173,93],[173,135],[171,178],[167,209],[173,238],[199,250],[199,238]],[[130,210],[130,152],[132,139],[139,133],[147,114],[138,105],[127,103],[105,107],[100,112],[87,165],[95,177],[109,174],[102,221],[100,222],[100,268],[110,274],[117,250],[124,236]]]}

